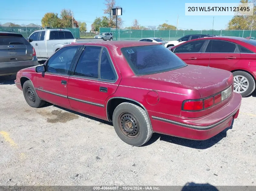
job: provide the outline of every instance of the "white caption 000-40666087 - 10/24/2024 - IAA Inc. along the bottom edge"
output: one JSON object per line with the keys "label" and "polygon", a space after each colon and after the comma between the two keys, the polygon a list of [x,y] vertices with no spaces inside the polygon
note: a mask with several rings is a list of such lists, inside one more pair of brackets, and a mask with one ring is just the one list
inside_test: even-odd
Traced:
{"label": "white caption 000-40666087 - 10/24/2024 - IAA Inc. along the bottom edge", "polygon": [[93,190],[159,190],[157,186],[94,186]]}

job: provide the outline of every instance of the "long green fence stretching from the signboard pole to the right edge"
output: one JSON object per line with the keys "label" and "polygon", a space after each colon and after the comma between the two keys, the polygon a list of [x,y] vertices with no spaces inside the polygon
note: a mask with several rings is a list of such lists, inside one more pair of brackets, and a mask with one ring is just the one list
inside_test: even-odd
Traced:
{"label": "long green fence stretching from the signboard pole to the right edge", "polygon": [[214,34],[232,37],[255,37],[256,30],[133,30],[100,28],[100,33],[112,33],[113,40],[140,40],[148,37],[158,37],[164,40],[178,40],[189,34]]}

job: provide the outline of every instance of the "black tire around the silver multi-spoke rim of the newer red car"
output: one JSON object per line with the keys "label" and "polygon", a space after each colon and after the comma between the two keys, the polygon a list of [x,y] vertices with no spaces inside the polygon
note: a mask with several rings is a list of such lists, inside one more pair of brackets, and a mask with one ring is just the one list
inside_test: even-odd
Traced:
{"label": "black tire around the silver multi-spoke rim of the newer red car", "polygon": [[[236,72],[233,72],[233,76],[234,76],[234,91],[236,90],[236,88],[240,88],[240,84],[239,82],[242,82],[242,81],[238,81],[237,82],[237,79],[241,79],[241,76],[246,78],[248,82],[245,82],[243,83],[243,85],[249,85],[248,88],[246,89],[246,91],[243,91],[243,89],[240,89],[242,90],[243,92],[241,92],[241,96],[242,97],[246,97],[248,95],[250,95],[254,90],[255,90],[255,80],[254,78],[248,74],[247,72],[244,72],[244,71],[236,71]],[[239,77],[240,76],[240,77]],[[237,78],[236,78],[237,77]],[[239,77],[239,78],[238,78]],[[236,79],[235,79],[236,78]],[[244,81],[244,80],[243,80]],[[239,93],[239,92],[238,92]]]}

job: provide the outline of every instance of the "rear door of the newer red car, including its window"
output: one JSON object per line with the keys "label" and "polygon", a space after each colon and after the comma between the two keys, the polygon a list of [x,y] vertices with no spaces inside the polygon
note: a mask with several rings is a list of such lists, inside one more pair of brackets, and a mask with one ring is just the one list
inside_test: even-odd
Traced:
{"label": "rear door of the newer red car, including its window", "polygon": [[226,40],[209,40],[205,53],[211,53],[210,67],[223,70],[229,70],[241,58],[237,44]]}

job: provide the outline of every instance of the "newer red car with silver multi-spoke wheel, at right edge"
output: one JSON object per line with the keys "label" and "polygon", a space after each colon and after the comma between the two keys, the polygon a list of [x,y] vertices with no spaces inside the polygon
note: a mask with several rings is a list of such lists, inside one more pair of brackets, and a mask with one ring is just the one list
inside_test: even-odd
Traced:
{"label": "newer red car with silver multi-spoke wheel, at right edge", "polygon": [[255,90],[256,40],[241,37],[207,37],[169,47],[187,64],[228,70],[234,91],[242,97]]}

